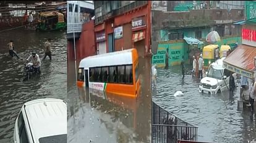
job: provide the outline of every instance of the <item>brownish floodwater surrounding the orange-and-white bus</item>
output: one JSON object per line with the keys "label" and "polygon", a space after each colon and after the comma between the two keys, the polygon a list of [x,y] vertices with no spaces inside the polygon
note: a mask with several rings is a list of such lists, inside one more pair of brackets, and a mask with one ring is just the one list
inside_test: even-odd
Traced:
{"label": "brownish floodwater surrounding the orange-and-white bus", "polygon": [[151,142],[150,61],[139,59],[142,90],[137,99],[77,88],[75,64],[69,61],[68,142]]}

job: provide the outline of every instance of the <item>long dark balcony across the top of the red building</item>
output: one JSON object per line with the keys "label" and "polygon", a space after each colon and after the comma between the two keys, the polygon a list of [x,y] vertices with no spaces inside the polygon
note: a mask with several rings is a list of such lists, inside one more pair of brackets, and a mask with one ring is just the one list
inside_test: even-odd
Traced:
{"label": "long dark balcony across the top of the red building", "polygon": [[114,17],[116,15],[124,14],[125,12],[129,12],[132,9],[144,6],[146,4],[148,4],[148,1],[135,1],[127,4],[126,6],[119,7],[119,9],[111,10],[111,12],[108,12],[107,14],[103,14],[100,17],[95,17],[95,24],[101,23],[104,20]]}

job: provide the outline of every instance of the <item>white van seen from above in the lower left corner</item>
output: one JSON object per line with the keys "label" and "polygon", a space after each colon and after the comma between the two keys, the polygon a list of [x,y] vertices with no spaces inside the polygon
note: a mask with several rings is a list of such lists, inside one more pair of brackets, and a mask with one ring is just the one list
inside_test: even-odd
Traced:
{"label": "white van seen from above in the lower left corner", "polygon": [[15,121],[14,142],[67,142],[66,102],[61,99],[26,102]]}

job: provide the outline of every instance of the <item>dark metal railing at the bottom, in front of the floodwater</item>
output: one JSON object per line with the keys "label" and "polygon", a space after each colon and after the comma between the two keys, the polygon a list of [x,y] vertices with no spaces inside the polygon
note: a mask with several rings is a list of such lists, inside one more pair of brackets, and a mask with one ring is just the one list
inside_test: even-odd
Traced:
{"label": "dark metal railing at the bottom, in front of the floodwater", "polygon": [[152,142],[197,141],[197,127],[177,118],[152,102]]}

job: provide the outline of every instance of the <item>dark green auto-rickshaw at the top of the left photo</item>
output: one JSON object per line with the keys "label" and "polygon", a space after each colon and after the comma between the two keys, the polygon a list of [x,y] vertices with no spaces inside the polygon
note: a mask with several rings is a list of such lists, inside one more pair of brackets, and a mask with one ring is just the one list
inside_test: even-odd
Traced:
{"label": "dark green auto-rickshaw at the top of the left photo", "polygon": [[64,20],[64,14],[57,11],[40,12],[36,30],[66,30],[67,24]]}

